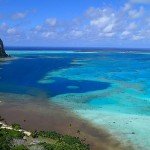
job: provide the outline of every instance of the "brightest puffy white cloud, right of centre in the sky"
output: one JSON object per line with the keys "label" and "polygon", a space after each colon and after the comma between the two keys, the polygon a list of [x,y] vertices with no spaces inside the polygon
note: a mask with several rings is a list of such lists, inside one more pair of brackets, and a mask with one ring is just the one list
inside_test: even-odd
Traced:
{"label": "brightest puffy white cloud, right of centre in the sky", "polygon": [[94,36],[98,36],[97,39],[115,36],[118,17],[112,9],[90,8],[86,15],[89,17],[88,31],[91,35],[94,33]]}

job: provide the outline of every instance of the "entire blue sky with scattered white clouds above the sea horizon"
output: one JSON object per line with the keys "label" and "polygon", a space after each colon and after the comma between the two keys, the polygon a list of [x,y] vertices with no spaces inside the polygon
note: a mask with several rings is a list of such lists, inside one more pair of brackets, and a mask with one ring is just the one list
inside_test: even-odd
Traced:
{"label": "entire blue sky with scattered white clouds above the sea horizon", "polygon": [[0,0],[5,46],[150,47],[150,0]]}

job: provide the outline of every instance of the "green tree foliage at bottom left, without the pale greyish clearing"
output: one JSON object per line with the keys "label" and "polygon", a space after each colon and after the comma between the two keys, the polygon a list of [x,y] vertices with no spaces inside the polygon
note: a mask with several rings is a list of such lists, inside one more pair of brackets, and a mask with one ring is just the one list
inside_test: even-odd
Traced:
{"label": "green tree foliage at bottom left, without the pale greyish clearing", "polygon": [[[13,124],[14,130],[0,129],[0,150],[28,150],[26,146],[13,147],[13,139],[23,139],[24,133],[16,131],[20,126]],[[79,132],[79,131],[78,131]],[[89,145],[85,144],[79,137],[62,135],[55,131],[35,131],[32,133],[33,138],[38,136],[53,139],[54,144],[39,143],[36,146],[44,147],[45,150],[90,150]]]}

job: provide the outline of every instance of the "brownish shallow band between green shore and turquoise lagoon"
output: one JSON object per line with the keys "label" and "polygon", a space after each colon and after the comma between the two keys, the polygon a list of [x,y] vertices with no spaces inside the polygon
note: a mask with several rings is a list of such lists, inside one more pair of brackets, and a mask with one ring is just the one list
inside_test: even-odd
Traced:
{"label": "brownish shallow band between green shore and turquoise lagoon", "polygon": [[[49,103],[46,97],[37,98],[0,93],[0,100],[2,101],[0,115],[8,124],[19,123],[27,131],[56,130],[62,134],[76,136],[76,131],[80,130],[81,137],[86,137],[86,142],[91,145],[91,150],[133,149],[131,146],[121,145],[106,130],[97,129],[89,122],[77,118],[75,114],[66,111],[64,108]],[[71,124],[71,128],[69,128],[69,124]]]}

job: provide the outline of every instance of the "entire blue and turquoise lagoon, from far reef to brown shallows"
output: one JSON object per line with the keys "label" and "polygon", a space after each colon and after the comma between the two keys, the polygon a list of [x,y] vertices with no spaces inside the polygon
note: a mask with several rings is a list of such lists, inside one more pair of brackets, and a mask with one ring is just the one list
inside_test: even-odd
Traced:
{"label": "entire blue and turquoise lagoon, from far reef to brown shallows", "polygon": [[[64,106],[123,144],[150,147],[150,53],[15,52],[0,64],[0,92],[35,94]],[[134,134],[132,134],[134,133]]]}

